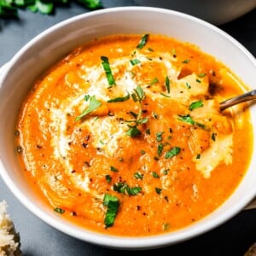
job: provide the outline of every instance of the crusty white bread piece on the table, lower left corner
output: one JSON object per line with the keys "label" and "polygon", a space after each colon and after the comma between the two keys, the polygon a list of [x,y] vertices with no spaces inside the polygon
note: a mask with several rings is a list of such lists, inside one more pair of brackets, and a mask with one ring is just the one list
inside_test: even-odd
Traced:
{"label": "crusty white bread piece on the table, lower left corner", "polygon": [[0,201],[0,256],[20,255],[20,235],[9,218],[6,201]]}

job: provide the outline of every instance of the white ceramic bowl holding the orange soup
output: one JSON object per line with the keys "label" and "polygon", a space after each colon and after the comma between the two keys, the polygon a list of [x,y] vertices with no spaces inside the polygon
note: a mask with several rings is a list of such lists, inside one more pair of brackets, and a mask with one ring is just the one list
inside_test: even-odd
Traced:
{"label": "white ceramic bowl holding the orange soup", "polygon": [[[103,9],[79,15],[49,28],[20,49],[9,61],[0,81],[0,172],[4,182],[25,207],[45,223],[70,236],[106,247],[153,248],[188,240],[223,224],[240,212],[256,194],[255,148],[247,174],[230,199],[207,218],[170,234],[120,237],[84,230],[56,215],[32,193],[15,157],[14,133],[20,104],[33,81],[44,70],[85,41],[113,33],[144,32],[165,34],[197,44],[203,51],[223,61],[244,83],[252,88],[256,85],[256,61],[235,39],[215,26],[189,15],[143,7]],[[252,107],[252,118],[256,127],[255,107]]]}

